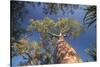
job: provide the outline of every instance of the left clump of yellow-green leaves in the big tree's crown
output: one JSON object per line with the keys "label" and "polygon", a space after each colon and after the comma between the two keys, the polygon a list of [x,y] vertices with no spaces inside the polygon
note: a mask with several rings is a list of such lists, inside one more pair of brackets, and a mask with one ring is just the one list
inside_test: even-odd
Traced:
{"label": "left clump of yellow-green leaves in the big tree's crown", "polygon": [[51,31],[52,25],[54,25],[54,21],[45,17],[43,20],[31,20],[28,30],[32,31],[34,29],[40,32],[42,38],[46,38],[47,35],[45,33]]}

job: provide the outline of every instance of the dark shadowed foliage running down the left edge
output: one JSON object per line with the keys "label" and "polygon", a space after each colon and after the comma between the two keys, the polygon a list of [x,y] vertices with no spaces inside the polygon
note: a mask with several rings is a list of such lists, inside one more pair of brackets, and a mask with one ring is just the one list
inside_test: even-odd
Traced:
{"label": "dark shadowed foliage running down the left edge", "polygon": [[11,58],[16,56],[16,49],[14,49],[14,44],[18,43],[18,40],[20,39],[21,35],[26,33],[26,30],[21,26],[21,23],[23,21],[23,16],[25,15],[23,13],[23,7],[25,5],[24,2],[10,2],[11,7],[11,34],[10,34],[10,40],[11,40]]}

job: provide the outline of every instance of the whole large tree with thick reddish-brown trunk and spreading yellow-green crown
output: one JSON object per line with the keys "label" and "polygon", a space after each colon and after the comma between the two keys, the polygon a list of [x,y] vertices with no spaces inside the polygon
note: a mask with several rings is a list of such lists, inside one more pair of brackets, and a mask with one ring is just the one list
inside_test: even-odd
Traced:
{"label": "whole large tree with thick reddish-brown trunk and spreading yellow-green crown", "polygon": [[55,22],[45,17],[42,20],[32,19],[28,30],[31,32],[39,32],[43,41],[49,39],[49,41],[55,45],[53,53],[54,63],[81,62],[74,48],[72,48],[64,38],[74,38],[78,36],[82,31],[80,22],[71,18],[62,18]]}

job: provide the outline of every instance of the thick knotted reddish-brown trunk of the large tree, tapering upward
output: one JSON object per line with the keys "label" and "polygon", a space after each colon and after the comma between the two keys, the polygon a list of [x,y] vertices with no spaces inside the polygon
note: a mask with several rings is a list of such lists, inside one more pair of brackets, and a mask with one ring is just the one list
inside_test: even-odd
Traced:
{"label": "thick knotted reddish-brown trunk of the large tree, tapering upward", "polygon": [[64,40],[64,36],[60,33],[54,51],[55,63],[78,63],[81,62],[76,51]]}

